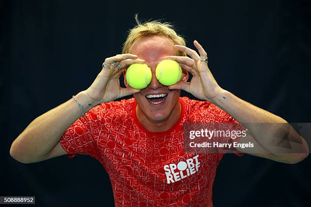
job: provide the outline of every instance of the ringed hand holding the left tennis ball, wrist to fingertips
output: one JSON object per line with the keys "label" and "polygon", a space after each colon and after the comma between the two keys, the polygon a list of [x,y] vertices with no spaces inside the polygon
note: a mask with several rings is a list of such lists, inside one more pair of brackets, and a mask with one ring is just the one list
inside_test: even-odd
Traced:
{"label": "ringed hand holding the left tennis ball, wrist to fingertips", "polygon": [[[119,64],[121,69],[119,70],[117,66],[114,67],[112,64],[113,62],[116,62],[116,65]],[[129,65],[144,62],[145,60],[137,58],[137,55],[129,53],[118,54],[116,56],[106,58],[104,63],[105,65],[110,66],[110,68],[103,67],[95,81],[88,89],[85,90],[85,93],[91,99],[101,103],[139,92],[140,89],[134,89],[131,87],[121,88],[119,77],[123,70],[128,68]]]}

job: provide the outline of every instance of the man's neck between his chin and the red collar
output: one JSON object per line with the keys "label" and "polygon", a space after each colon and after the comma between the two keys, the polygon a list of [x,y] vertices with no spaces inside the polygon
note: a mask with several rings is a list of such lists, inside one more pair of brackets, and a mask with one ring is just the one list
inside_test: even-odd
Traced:
{"label": "man's neck between his chin and the red collar", "polygon": [[149,119],[143,113],[143,111],[139,108],[138,105],[136,105],[135,111],[136,111],[136,117],[139,123],[145,129],[151,132],[163,132],[163,131],[169,130],[170,128],[174,126],[174,124],[177,123],[180,117],[180,114],[181,114],[181,105],[180,105],[180,101],[178,100],[172,112],[170,113],[170,115],[166,119],[160,120],[160,121],[154,121],[154,120]]}

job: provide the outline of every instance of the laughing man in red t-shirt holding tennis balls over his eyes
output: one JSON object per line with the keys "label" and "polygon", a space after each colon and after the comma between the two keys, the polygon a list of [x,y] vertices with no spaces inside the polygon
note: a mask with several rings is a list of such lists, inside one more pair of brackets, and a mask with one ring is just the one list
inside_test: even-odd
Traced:
{"label": "laughing man in red t-shirt holding tennis balls over his eyes", "polygon": [[[106,58],[86,90],[30,123],[13,142],[12,157],[32,163],[65,154],[88,154],[108,172],[115,206],[212,206],[215,170],[224,154],[184,152],[184,124],[246,123],[247,141],[264,147],[261,153],[239,148],[241,153],[285,163],[299,162],[308,155],[303,139],[303,153],[273,153],[266,143],[281,137],[247,123],[287,122],[221,88],[197,41],[198,52],[185,47],[168,23],[137,23],[122,54]],[[155,77],[155,67],[163,59],[175,60],[182,67],[178,83],[164,86]],[[144,89],[131,88],[126,79],[127,88],[119,86],[120,75],[125,76],[133,63],[151,68],[152,79]],[[191,82],[187,82],[189,73]],[[181,89],[202,101],[179,97]],[[130,94],[134,98],[114,101]]]}

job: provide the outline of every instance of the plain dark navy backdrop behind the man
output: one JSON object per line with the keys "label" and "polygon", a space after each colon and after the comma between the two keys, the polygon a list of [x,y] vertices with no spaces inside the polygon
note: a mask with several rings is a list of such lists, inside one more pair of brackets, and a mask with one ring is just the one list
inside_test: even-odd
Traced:
{"label": "plain dark navy backdrop behind the man", "polygon": [[[309,1],[0,5],[2,196],[34,195],[37,206],[113,206],[108,175],[95,159],[22,164],[9,149],[31,121],[85,90],[103,60],[121,53],[135,13],[173,23],[188,47],[198,40],[224,89],[288,122],[310,122]],[[217,169],[214,206],[311,206],[310,160],[291,165],[227,154]]]}

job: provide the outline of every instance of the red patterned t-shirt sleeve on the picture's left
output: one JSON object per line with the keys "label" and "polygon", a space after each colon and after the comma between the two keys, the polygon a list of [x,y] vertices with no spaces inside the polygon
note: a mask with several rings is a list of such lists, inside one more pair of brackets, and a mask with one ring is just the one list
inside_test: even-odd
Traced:
{"label": "red patterned t-shirt sleeve on the picture's left", "polygon": [[84,154],[100,159],[97,146],[100,117],[96,113],[96,107],[86,112],[85,117],[81,116],[76,120],[61,136],[59,143],[68,153],[67,157]]}

